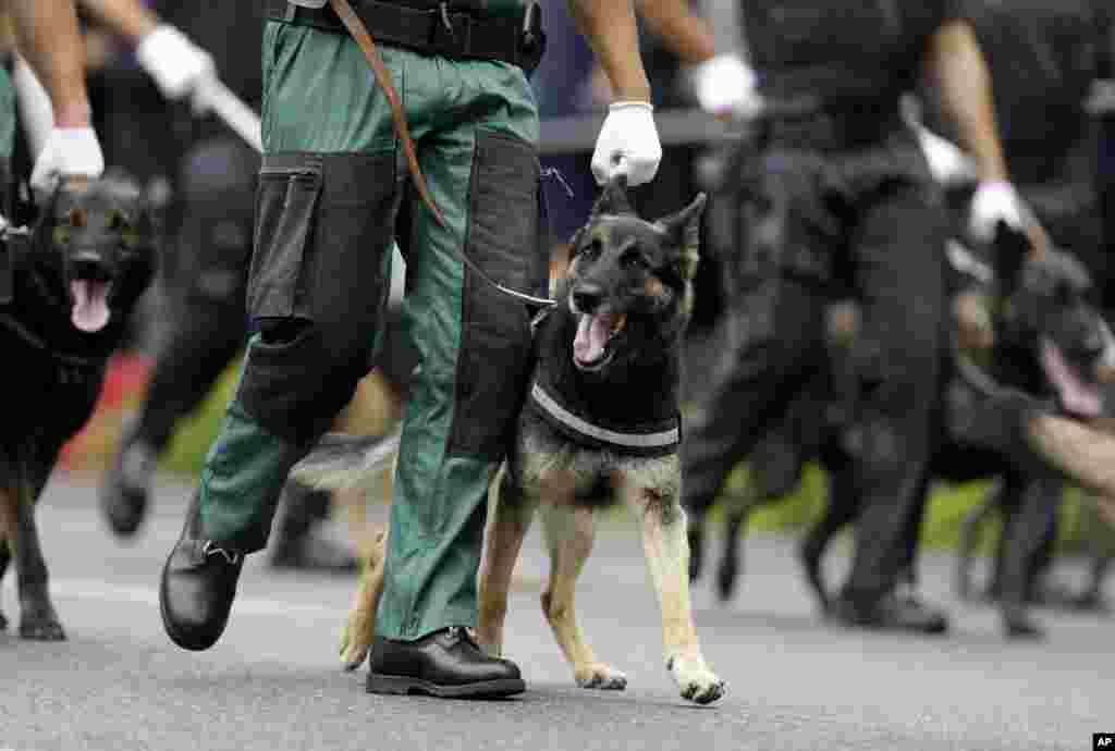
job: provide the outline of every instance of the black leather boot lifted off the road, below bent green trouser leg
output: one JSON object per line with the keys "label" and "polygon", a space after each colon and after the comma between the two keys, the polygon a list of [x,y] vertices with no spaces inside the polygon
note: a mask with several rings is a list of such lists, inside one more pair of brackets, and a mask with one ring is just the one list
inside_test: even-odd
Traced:
{"label": "black leather boot lifted off the road, below bent green trouser leg", "polygon": [[207,650],[224,633],[244,565],[241,553],[204,539],[202,534],[197,491],[182,536],[163,567],[158,591],[167,636],[182,648],[194,651]]}

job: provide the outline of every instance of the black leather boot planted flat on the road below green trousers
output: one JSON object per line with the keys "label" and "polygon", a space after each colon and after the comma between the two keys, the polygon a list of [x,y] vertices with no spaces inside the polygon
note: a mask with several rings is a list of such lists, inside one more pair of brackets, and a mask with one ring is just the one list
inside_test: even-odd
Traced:
{"label": "black leather boot planted flat on the road below green trousers", "polygon": [[368,693],[498,699],[525,690],[518,666],[489,657],[463,626],[415,642],[377,637],[369,656]]}

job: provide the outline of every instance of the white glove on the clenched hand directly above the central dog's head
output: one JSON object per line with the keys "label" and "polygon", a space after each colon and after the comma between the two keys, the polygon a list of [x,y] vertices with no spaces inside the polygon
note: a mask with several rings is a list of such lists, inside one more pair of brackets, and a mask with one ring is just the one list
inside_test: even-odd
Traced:
{"label": "white glove on the clenched hand directly above the central dog's head", "polygon": [[655,178],[662,160],[662,145],[653,111],[649,101],[617,101],[608,108],[592,153],[592,174],[598,185],[619,175],[627,176],[628,185]]}

